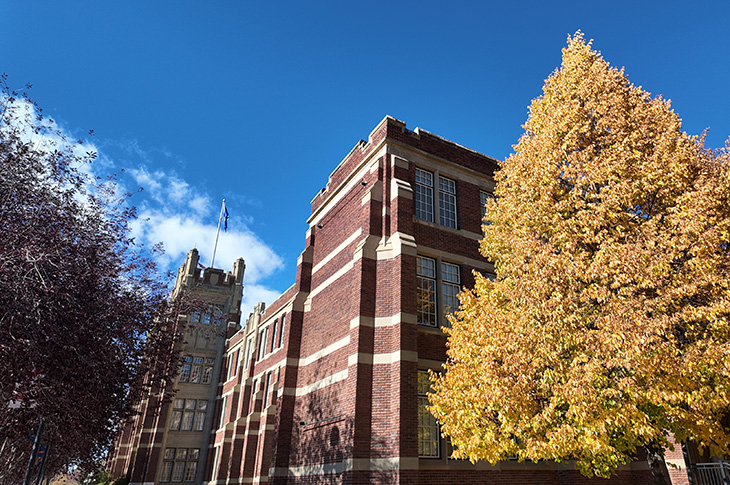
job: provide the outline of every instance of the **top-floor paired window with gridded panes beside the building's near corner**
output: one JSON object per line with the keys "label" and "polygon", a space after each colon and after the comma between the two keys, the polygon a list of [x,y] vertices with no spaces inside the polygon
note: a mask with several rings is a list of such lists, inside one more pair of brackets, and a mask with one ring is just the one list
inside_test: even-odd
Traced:
{"label": "top-floor paired window with gridded panes beside the building's near corner", "polygon": [[[438,178],[438,201],[434,201],[434,179]],[[438,223],[451,229],[457,228],[456,182],[416,168],[416,218],[434,222],[438,212]],[[437,206],[436,206],[437,204]],[[437,210],[438,207],[438,210]]]}

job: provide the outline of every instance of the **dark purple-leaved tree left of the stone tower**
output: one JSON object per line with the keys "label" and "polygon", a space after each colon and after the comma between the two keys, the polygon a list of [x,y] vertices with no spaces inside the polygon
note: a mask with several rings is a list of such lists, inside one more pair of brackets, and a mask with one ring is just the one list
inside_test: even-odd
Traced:
{"label": "dark purple-leaved tree left of the stone tower", "polygon": [[48,474],[104,452],[175,372],[183,303],[130,237],[129,194],[89,175],[95,153],[2,85],[0,480],[16,482],[41,419]]}

